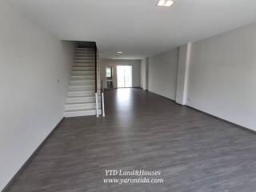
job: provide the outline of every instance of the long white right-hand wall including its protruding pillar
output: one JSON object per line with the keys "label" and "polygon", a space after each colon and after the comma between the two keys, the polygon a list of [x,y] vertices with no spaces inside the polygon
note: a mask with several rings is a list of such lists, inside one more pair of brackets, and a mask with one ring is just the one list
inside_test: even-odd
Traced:
{"label": "long white right-hand wall including its protruding pillar", "polygon": [[149,58],[149,90],[256,130],[256,23],[178,49]]}

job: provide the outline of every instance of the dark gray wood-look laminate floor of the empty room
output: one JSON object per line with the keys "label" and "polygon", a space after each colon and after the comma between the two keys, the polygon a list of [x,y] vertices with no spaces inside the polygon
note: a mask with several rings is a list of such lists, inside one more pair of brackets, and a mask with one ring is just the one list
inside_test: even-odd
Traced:
{"label": "dark gray wood-look laminate floor of the empty room", "polygon": [[[105,184],[110,169],[160,170],[164,182]],[[256,134],[143,90],[111,90],[106,118],[66,118],[10,191],[255,192]]]}

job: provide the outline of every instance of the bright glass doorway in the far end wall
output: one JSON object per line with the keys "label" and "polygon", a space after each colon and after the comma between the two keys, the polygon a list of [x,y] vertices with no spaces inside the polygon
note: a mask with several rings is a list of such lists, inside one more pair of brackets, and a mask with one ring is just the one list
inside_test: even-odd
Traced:
{"label": "bright glass doorway in the far end wall", "polygon": [[117,66],[118,88],[132,87],[132,66]]}

